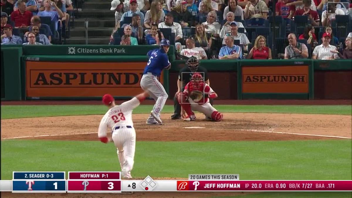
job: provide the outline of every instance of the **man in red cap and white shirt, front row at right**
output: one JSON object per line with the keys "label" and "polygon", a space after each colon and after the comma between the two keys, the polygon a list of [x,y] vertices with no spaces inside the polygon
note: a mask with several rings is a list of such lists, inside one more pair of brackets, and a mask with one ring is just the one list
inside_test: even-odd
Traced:
{"label": "man in red cap and white shirt, front row at right", "polygon": [[323,43],[314,48],[312,59],[314,60],[333,60],[338,57],[334,51],[337,51],[337,48],[334,45],[330,45],[331,35],[329,33],[324,33],[321,38]]}

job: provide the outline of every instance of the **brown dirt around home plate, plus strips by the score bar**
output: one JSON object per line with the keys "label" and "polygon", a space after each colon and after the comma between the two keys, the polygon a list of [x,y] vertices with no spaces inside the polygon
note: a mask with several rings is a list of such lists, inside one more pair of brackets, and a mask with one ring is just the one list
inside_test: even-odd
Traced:
{"label": "brown dirt around home plate, plus strips by the score bar", "polygon": [[[59,116],[1,120],[1,139],[41,139],[98,141],[98,126],[103,115]],[[337,137],[352,137],[352,116],[313,115],[290,113],[224,113],[221,122],[205,121],[205,116],[196,113],[197,120],[184,122],[171,120],[170,113],[163,113],[163,125],[146,125],[147,114],[133,114],[137,141],[281,141],[281,140],[343,140]],[[20,125],[18,123],[21,123]],[[202,127],[185,129],[184,127]],[[267,132],[263,132],[267,131]],[[294,134],[278,134],[285,132]],[[86,133],[86,134],[82,134]],[[109,132],[109,134],[111,134]],[[43,136],[44,137],[33,137]],[[309,136],[320,135],[320,136]],[[136,178],[134,178],[136,179]],[[142,179],[142,178],[140,178]],[[153,178],[175,179],[175,178]],[[176,178],[179,179],[179,178]],[[133,194],[77,194],[48,193],[23,194],[1,192],[1,197],[215,197],[235,196],[243,192],[136,192]],[[250,193],[250,192],[245,192]]]}

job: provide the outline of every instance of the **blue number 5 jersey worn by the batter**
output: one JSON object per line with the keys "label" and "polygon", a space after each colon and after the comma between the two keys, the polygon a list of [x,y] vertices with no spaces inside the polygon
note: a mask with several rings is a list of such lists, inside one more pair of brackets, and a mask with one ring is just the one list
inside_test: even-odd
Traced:
{"label": "blue number 5 jersey worn by the batter", "polygon": [[170,66],[168,55],[160,49],[150,50],[147,55],[149,60],[143,74],[150,72],[153,75],[160,76],[161,71]]}

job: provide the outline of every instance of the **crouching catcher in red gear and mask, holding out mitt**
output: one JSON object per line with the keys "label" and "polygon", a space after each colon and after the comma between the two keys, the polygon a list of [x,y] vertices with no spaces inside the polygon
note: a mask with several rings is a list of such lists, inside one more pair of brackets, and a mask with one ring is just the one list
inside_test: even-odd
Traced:
{"label": "crouching catcher in red gear and mask, holding out mitt", "polygon": [[[182,106],[184,112],[187,113],[184,121],[193,121],[196,119],[194,111],[204,113],[206,117],[212,118],[213,121],[220,121],[222,113],[219,113],[210,103],[209,98],[217,98],[213,89],[204,82],[204,78],[200,73],[194,73],[190,82],[184,87],[184,91],[177,94],[178,103]],[[182,113],[184,113],[182,112]],[[184,115],[182,115],[184,117]]]}

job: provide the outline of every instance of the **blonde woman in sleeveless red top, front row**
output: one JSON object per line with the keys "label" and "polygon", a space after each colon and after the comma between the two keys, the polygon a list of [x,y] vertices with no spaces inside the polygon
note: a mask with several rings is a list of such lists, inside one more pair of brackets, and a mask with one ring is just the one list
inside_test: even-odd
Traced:
{"label": "blonde woman in sleeveless red top, front row", "polygon": [[259,35],[254,41],[254,46],[247,55],[247,59],[272,59],[271,49],[266,47],[266,39],[264,36]]}

